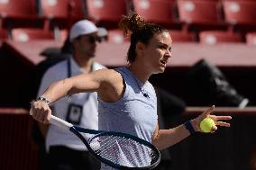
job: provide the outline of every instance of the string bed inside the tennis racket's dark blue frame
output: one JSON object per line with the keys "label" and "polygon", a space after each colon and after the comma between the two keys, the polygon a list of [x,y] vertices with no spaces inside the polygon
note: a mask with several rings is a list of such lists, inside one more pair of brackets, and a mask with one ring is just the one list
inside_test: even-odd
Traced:
{"label": "string bed inside the tennis racket's dark blue frame", "polygon": [[120,136],[97,137],[91,140],[90,147],[98,156],[121,166],[150,166],[159,158],[151,148]]}

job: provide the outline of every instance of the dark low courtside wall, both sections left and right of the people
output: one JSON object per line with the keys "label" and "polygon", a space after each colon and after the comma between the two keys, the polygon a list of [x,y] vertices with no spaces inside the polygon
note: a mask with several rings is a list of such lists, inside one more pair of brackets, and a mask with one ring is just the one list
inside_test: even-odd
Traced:
{"label": "dark low courtside wall, both sections left and right of the people", "polygon": [[[187,107],[183,115],[163,115],[167,128],[196,117],[202,107]],[[169,148],[173,170],[252,170],[256,165],[256,108],[215,108],[232,115],[230,128],[197,133]],[[0,109],[0,169],[38,169],[38,147],[31,137],[32,118],[23,109]],[[253,159],[254,157],[254,159]],[[254,167],[255,168],[255,167]]]}

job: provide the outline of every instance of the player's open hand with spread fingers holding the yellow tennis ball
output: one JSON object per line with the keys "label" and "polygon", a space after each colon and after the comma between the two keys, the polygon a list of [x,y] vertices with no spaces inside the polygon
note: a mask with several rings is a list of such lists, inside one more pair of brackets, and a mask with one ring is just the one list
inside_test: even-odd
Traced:
{"label": "player's open hand with spread fingers holding the yellow tennis ball", "polygon": [[213,126],[211,133],[214,133],[215,130],[217,130],[217,126],[224,126],[224,127],[230,127],[230,123],[225,122],[232,119],[231,116],[216,116],[213,115],[212,112],[215,110],[215,105],[211,106],[209,109],[207,109],[205,112],[200,114],[196,119],[191,120],[191,123],[193,125],[193,128],[196,131],[202,132],[200,129],[200,122],[203,121],[205,118],[211,118],[213,121],[215,121],[215,125]]}

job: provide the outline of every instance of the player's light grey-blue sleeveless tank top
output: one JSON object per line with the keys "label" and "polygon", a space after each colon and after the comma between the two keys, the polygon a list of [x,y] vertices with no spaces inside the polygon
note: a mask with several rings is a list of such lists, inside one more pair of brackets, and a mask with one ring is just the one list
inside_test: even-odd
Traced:
{"label": "player's light grey-blue sleeveless tank top", "polygon": [[[123,76],[125,91],[123,97],[114,103],[106,103],[98,96],[99,130],[128,133],[151,142],[158,120],[154,87],[149,81],[143,84],[127,67],[115,71]],[[125,151],[120,148],[120,152]],[[143,151],[140,154],[145,155]],[[120,158],[122,160],[125,160],[125,154]],[[144,157],[142,162],[149,164],[149,157]],[[134,161],[134,164],[139,163]],[[101,169],[113,168],[102,165]]]}

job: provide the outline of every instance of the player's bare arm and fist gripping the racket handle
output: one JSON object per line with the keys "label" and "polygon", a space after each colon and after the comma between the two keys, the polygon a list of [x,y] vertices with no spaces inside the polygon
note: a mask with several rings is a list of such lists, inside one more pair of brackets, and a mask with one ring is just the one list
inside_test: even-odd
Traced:
{"label": "player's bare arm and fist gripping the racket handle", "polygon": [[[52,83],[42,94],[51,103],[67,94],[97,92],[105,102],[115,102],[123,94],[123,78],[113,69],[101,69],[90,74],[73,76]],[[50,107],[43,101],[32,103],[33,118],[50,122]]]}

